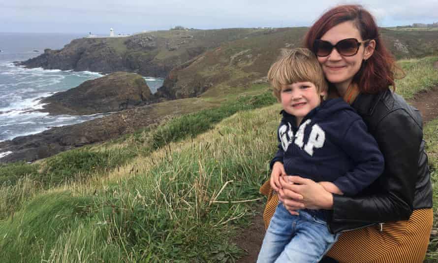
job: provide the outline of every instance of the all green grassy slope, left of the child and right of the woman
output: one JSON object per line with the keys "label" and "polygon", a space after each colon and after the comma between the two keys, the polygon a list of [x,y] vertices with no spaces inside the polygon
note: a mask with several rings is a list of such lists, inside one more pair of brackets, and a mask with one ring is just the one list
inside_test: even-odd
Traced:
{"label": "all green grassy slope, left of the child and right of the woman", "polygon": [[[436,71],[423,74],[437,60],[401,62],[419,81],[398,82],[398,92],[437,85]],[[274,102],[267,86],[251,86],[118,140],[1,165],[0,261],[234,262],[243,251],[230,240],[261,217],[255,202],[280,120]],[[433,165],[437,129],[425,128]],[[432,242],[428,257],[436,254]]]}

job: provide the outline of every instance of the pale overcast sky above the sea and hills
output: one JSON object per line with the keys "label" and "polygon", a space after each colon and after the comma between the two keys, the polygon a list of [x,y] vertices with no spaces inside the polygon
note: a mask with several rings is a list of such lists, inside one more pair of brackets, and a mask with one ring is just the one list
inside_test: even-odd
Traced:
{"label": "pale overcast sky above the sea and hills", "polygon": [[438,0],[0,0],[0,32],[310,26],[339,3],[364,5],[383,27],[438,22]]}

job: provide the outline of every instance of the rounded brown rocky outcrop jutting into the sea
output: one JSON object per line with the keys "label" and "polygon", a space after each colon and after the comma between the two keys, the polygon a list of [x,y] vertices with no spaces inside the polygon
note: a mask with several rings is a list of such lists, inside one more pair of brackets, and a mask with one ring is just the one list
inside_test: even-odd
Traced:
{"label": "rounded brown rocky outcrop jutting into the sea", "polygon": [[151,90],[136,73],[115,72],[43,99],[51,114],[89,115],[120,111],[150,103]]}

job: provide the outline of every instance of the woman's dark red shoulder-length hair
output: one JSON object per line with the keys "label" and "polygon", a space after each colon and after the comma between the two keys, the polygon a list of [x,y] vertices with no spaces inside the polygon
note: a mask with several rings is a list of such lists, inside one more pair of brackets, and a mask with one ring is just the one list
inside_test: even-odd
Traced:
{"label": "woman's dark red shoulder-length hair", "polygon": [[313,42],[320,39],[334,26],[352,21],[359,30],[362,40],[374,39],[374,54],[362,62],[361,69],[353,81],[359,85],[362,93],[375,94],[394,83],[394,58],[383,45],[373,16],[361,5],[340,5],[325,12],[310,28],[304,39],[305,47],[313,49]]}

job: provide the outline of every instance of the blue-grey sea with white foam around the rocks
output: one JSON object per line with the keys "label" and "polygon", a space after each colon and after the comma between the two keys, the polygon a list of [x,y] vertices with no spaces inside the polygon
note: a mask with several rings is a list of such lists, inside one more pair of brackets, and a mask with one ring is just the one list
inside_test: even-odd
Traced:
{"label": "blue-grey sea with white foam around the rocks", "polygon": [[[13,65],[15,61],[25,61],[42,54],[46,48],[60,49],[79,37],[82,35],[0,33],[0,141],[105,115],[50,116],[38,111],[43,106],[41,99],[74,88],[86,80],[101,77],[101,74],[90,71],[27,69]],[[145,76],[144,79],[152,93],[163,83],[163,79],[159,78]],[[0,157],[5,154],[0,149]]]}

